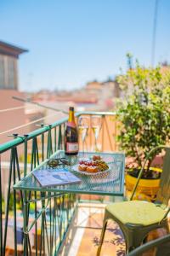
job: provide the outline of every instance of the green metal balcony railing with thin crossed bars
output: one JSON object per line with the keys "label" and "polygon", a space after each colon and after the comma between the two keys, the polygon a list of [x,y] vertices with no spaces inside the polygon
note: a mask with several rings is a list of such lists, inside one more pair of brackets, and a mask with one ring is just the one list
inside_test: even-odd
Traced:
{"label": "green metal balcony railing with thin crossed bars", "polygon": [[[116,113],[77,113],[76,117],[102,116],[102,127],[98,138],[100,151],[115,151],[117,122]],[[13,185],[42,163],[58,149],[64,149],[65,123],[60,119],[52,125],[27,135],[14,134],[14,139],[0,145],[0,255],[56,255],[77,206],[75,195],[59,195],[45,200],[46,211],[42,211],[41,194],[30,192],[30,207],[27,214],[34,219],[30,227],[27,246],[23,248],[23,192],[13,190]],[[80,150],[82,141],[80,139]],[[89,127],[85,150],[94,151],[94,133]],[[26,192],[24,192],[26,193]]]}

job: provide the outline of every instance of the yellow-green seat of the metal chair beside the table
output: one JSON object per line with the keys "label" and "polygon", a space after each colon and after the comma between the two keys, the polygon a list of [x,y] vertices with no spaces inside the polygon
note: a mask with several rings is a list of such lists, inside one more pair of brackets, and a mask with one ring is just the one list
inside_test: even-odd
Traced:
{"label": "yellow-green seat of the metal chair beside the table", "polygon": [[122,224],[156,224],[165,215],[165,210],[146,201],[123,201],[108,205],[106,210]]}

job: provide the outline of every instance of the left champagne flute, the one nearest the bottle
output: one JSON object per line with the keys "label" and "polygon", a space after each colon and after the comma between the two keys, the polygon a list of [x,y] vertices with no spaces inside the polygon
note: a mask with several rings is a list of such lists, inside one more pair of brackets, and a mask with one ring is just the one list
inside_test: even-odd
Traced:
{"label": "left champagne flute, the one nearest the bottle", "polygon": [[82,153],[84,154],[84,142],[88,134],[89,118],[88,116],[80,116],[78,119],[78,131],[82,136]]}

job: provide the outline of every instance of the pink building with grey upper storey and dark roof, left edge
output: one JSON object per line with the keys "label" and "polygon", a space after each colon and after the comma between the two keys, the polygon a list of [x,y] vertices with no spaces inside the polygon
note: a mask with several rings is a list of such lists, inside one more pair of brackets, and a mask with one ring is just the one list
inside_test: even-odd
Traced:
{"label": "pink building with grey upper storey and dark roof, left edge", "polygon": [[[24,97],[24,94],[18,90],[17,65],[19,55],[26,51],[26,49],[0,41],[0,109],[2,110],[0,113],[0,133],[26,124],[24,102],[17,102],[13,99],[13,96]],[[14,111],[3,112],[3,109],[18,107],[19,109]],[[22,130],[16,132],[20,133]],[[11,137],[7,136],[8,133],[1,134],[0,143],[5,143],[11,139]]]}

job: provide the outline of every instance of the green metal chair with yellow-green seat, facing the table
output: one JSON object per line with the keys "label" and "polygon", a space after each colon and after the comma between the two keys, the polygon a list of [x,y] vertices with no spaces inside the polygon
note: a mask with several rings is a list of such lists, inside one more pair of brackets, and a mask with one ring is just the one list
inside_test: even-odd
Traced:
{"label": "green metal chair with yellow-green seat, facing the table", "polygon": [[[161,172],[161,181],[156,202],[133,201],[133,195],[139,184],[139,179],[144,171],[147,161],[150,156],[156,155],[162,149],[165,150],[163,157],[163,168]],[[97,256],[101,251],[102,243],[105,236],[105,230],[109,219],[116,221],[119,224],[126,241],[126,252],[132,251],[139,247],[144,241],[150,230],[157,228],[165,228],[167,232],[167,213],[170,207],[167,207],[170,198],[170,147],[160,146],[150,150],[144,166],[139,172],[137,183],[134,186],[130,201],[122,201],[109,204],[105,207],[104,225],[101,233]]]}

